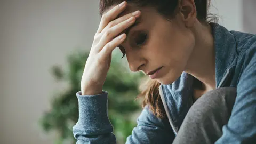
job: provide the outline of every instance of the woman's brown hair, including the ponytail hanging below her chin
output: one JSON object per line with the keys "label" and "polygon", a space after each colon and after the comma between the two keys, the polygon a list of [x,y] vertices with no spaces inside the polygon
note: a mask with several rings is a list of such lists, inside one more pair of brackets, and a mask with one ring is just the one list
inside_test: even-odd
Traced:
{"label": "woman's brown hair, including the ponytail hanging below her chin", "polygon": [[[150,6],[154,7],[157,12],[166,18],[173,17],[177,12],[178,4],[181,0],[127,0],[127,3],[132,3],[137,7]],[[100,0],[100,15],[113,5],[117,5],[123,2],[123,0]],[[217,17],[212,14],[208,14],[208,7],[210,6],[210,0],[194,0],[196,5],[197,19],[204,23],[210,23],[217,21]],[[161,84],[156,80],[147,79],[140,86],[141,93],[138,98],[144,98],[142,101],[142,108],[149,105],[150,110],[158,118],[165,118],[166,113],[163,107],[161,97],[159,95],[158,87]]]}

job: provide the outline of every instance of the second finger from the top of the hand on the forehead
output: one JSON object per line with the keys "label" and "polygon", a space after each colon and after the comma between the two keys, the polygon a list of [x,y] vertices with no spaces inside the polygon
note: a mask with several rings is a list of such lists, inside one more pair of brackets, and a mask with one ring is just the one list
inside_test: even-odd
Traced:
{"label": "second finger from the top of the hand on the forehead", "polygon": [[111,28],[111,27],[114,27],[114,26],[116,26],[118,23],[121,23],[121,22],[123,22],[123,21],[125,21],[125,20],[127,20],[127,19],[129,19],[129,18],[131,18],[131,17],[138,18],[138,17],[140,17],[140,14],[141,14],[140,11],[135,11],[135,12],[126,14],[126,15],[124,15],[123,17],[120,17],[120,18],[118,18],[118,19],[115,19],[115,20],[109,22],[108,25],[101,31],[101,33],[105,33],[105,31],[106,31],[107,29],[109,29],[109,28]]}

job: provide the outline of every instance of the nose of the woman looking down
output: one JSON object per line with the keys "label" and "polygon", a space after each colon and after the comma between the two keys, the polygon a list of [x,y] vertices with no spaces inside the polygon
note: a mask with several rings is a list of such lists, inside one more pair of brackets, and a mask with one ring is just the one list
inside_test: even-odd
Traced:
{"label": "nose of the woman looking down", "polygon": [[146,65],[146,60],[140,57],[138,54],[127,54],[127,61],[129,63],[129,68],[133,72],[137,72],[142,70],[142,68]]}

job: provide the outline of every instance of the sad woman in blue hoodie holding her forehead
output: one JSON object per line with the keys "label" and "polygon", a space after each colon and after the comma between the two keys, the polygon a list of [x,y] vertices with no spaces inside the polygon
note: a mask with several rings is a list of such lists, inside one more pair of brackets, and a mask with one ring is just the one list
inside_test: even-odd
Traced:
{"label": "sad woman in blue hoodie holding her forehead", "polygon": [[119,3],[100,1],[77,93],[77,143],[116,143],[102,86],[117,46],[151,78],[126,143],[256,142],[256,36],[207,21],[206,0]]}

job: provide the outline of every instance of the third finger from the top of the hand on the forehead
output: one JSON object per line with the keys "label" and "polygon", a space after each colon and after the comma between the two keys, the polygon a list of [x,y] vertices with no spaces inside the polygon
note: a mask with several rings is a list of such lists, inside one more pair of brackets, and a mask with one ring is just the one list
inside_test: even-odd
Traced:
{"label": "third finger from the top of the hand on the forehead", "polygon": [[135,18],[131,17],[126,21],[123,21],[119,23],[118,25],[108,29],[100,39],[100,42],[98,43],[99,51],[102,49],[103,46],[105,46],[108,42],[110,42],[113,38],[115,38],[118,34],[122,33],[126,28],[133,25],[135,22]]}

